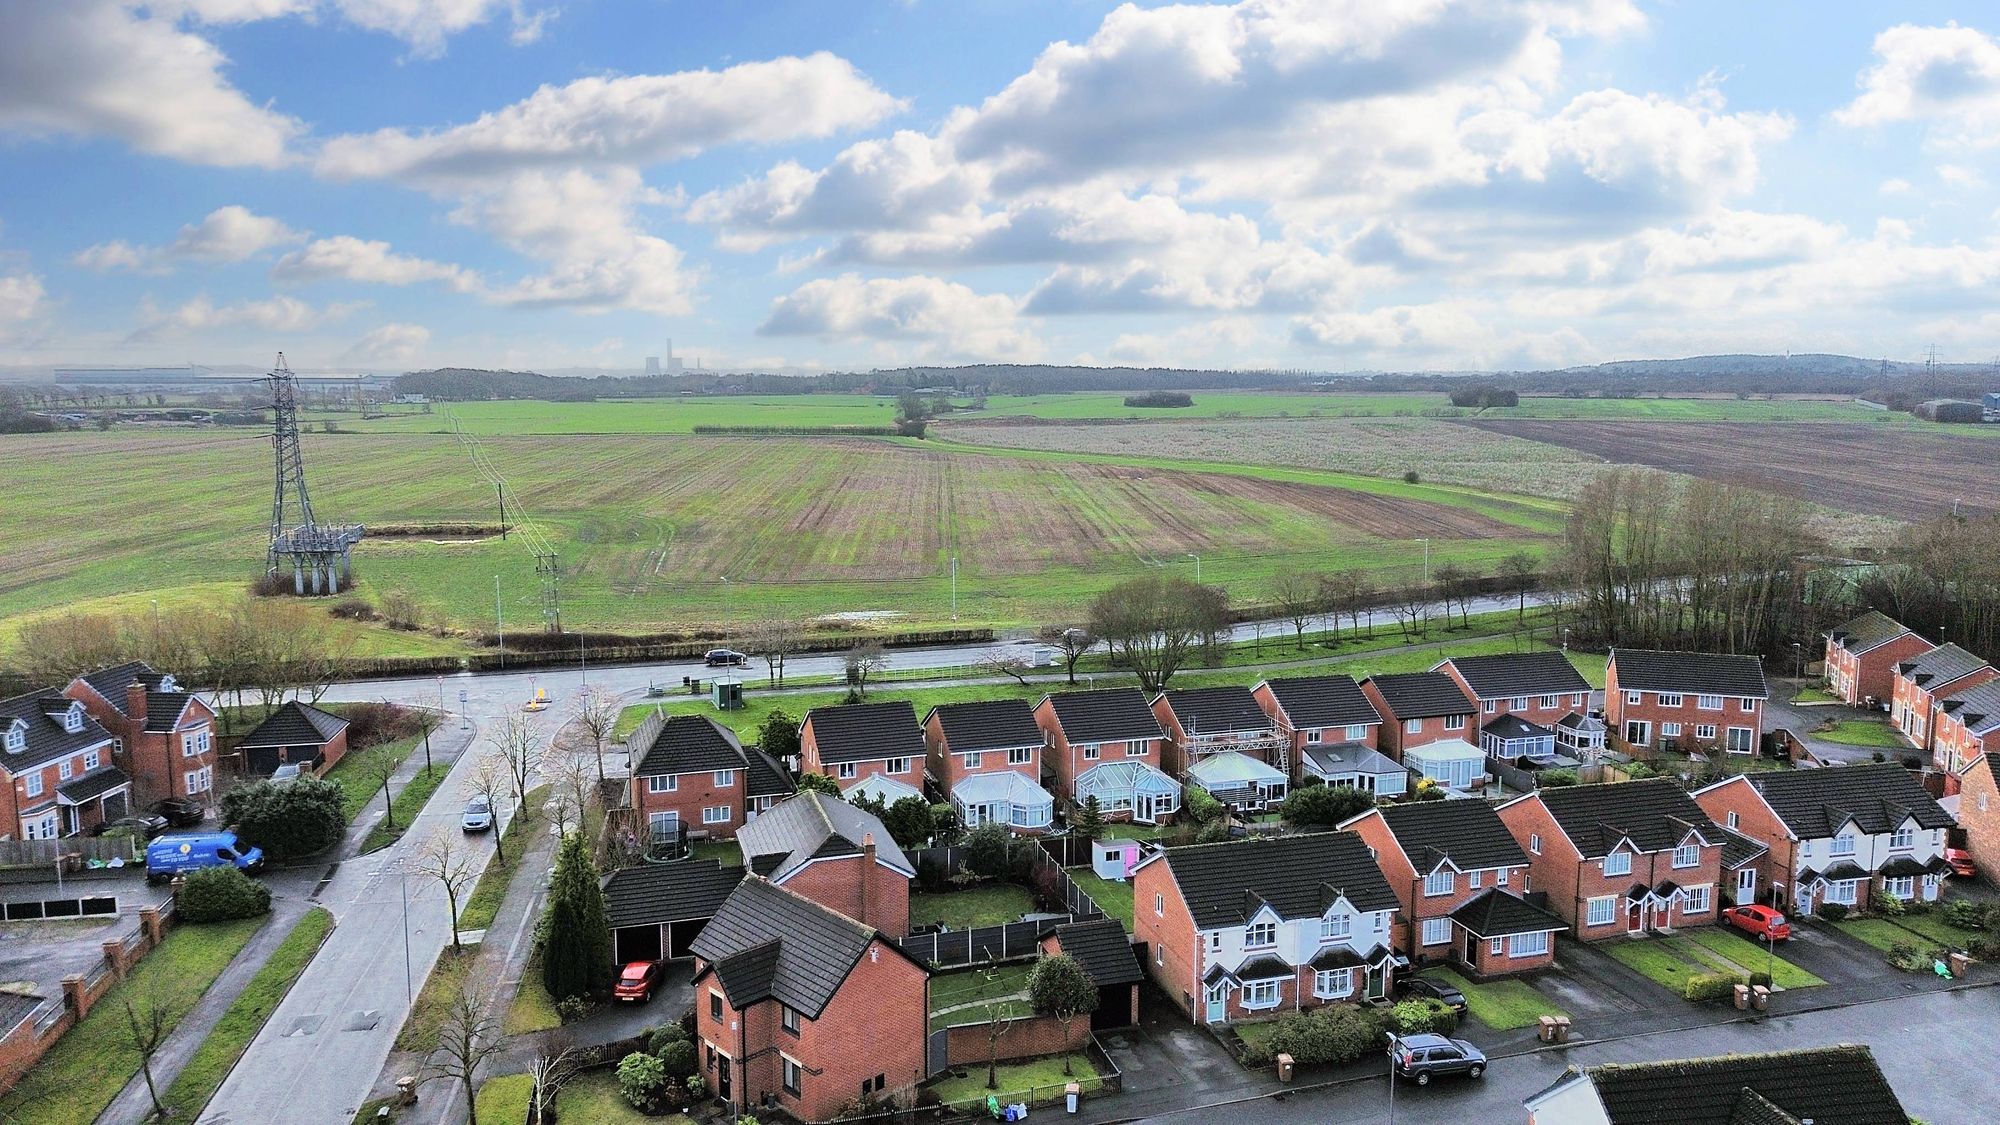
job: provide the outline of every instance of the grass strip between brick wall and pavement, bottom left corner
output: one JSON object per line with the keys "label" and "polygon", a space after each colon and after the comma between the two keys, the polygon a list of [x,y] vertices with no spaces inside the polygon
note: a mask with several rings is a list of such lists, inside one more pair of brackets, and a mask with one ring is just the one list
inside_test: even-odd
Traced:
{"label": "grass strip between brick wall and pavement, bottom left corner", "polygon": [[126,1029],[124,1001],[162,1003],[174,1025],[242,953],[264,919],[176,925],[132,973],[110,987],[90,1013],[38,1061],[4,1099],[0,1121],[10,1125],[90,1125],[126,1081],[140,1057]]}

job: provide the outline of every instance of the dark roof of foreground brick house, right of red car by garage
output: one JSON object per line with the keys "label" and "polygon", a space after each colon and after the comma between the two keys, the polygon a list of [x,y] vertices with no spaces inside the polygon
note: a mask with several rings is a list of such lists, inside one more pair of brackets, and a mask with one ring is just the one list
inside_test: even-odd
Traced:
{"label": "dark roof of foreground brick house, right of red car by garage", "polygon": [[[714,969],[730,1007],[774,999],[816,1019],[878,937],[874,927],[752,875],[688,949]],[[908,959],[894,941],[882,947]]]}

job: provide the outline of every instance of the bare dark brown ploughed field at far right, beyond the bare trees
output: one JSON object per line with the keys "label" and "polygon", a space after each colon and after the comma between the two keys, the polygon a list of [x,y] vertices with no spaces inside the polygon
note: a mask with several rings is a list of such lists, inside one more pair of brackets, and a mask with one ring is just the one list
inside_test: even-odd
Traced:
{"label": "bare dark brown ploughed field at far right, beyond the bare trees", "polygon": [[1960,510],[2000,510],[2000,442],[1982,432],[1954,434],[1946,426],[1512,418],[1460,424],[1900,520],[1950,510],[1952,500],[1962,500]]}

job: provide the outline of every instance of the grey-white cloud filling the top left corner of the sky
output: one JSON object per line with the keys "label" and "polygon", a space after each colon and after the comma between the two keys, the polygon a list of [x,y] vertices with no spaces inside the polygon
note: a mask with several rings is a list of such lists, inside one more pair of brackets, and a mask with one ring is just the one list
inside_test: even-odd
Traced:
{"label": "grey-white cloud filling the top left corner of the sky", "polygon": [[236,90],[214,44],[128,0],[8,0],[0,26],[0,130],[110,136],[192,164],[264,168],[284,164],[302,130]]}

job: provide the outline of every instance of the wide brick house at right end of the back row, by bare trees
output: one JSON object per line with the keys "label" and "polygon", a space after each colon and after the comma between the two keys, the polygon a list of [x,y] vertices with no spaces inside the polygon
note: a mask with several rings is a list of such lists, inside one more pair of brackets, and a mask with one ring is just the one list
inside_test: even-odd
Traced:
{"label": "wide brick house at right end of the back row, by bare trees", "polygon": [[1756,657],[1612,649],[1604,667],[1604,723],[1626,749],[1754,755],[1766,699]]}

